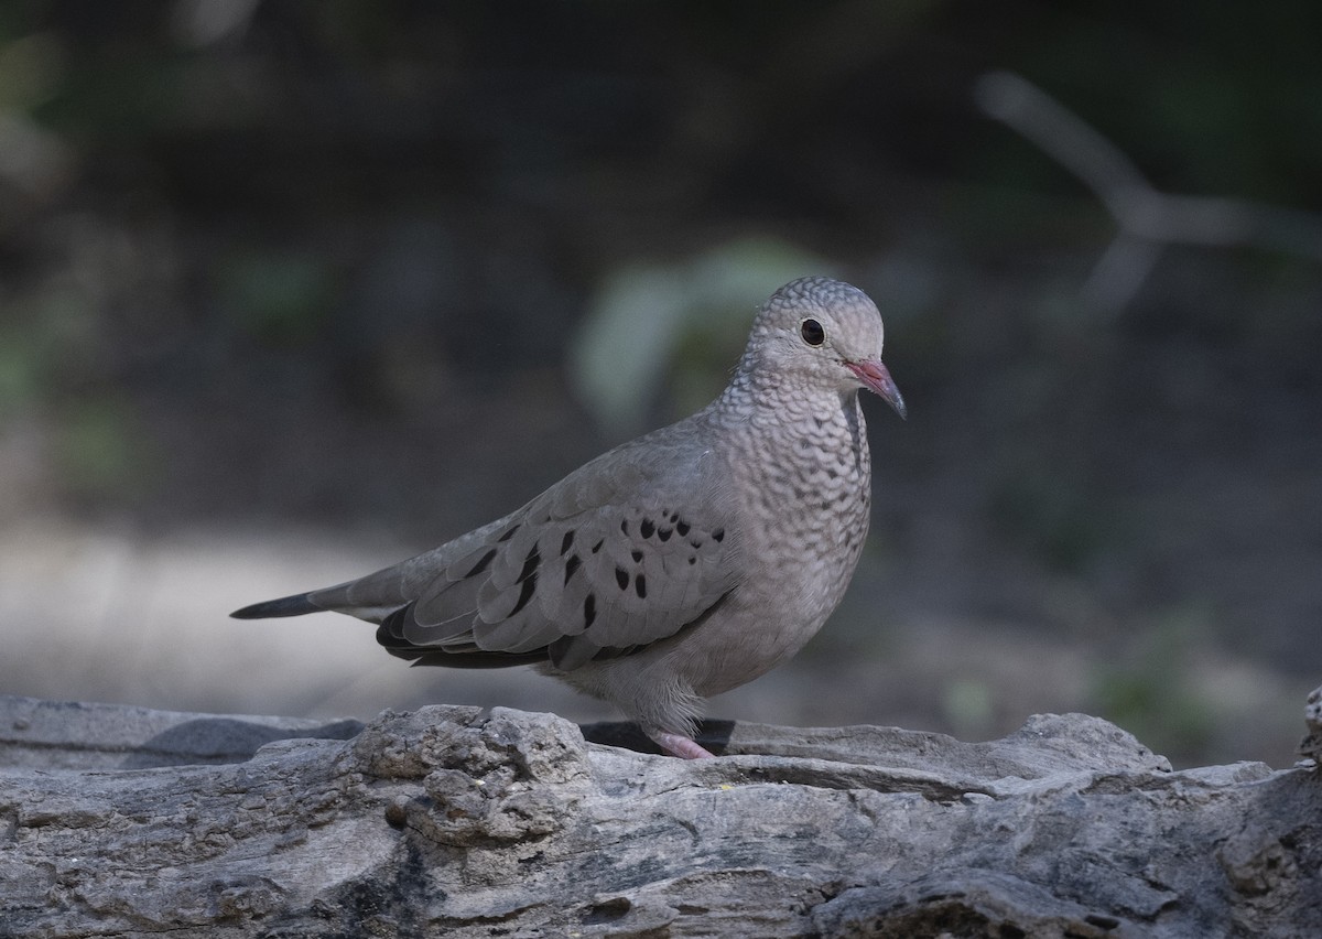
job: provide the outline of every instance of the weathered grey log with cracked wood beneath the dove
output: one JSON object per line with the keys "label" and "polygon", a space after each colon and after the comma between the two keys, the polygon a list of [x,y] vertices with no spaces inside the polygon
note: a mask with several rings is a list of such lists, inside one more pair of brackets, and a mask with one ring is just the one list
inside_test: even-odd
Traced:
{"label": "weathered grey log with cracked wood beneath the dove", "polygon": [[1081,714],[707,730],[0,698],[0,935],[1322,935],[1307,766],[1173,772]]}

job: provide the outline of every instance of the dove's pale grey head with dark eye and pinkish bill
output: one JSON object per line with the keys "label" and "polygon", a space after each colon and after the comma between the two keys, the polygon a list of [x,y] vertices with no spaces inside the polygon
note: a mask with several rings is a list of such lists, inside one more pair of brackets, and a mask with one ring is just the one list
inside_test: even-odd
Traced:
{"label": "dove's pale grey head with dark eye and pinkish bill", "polygon": [[746,361],[781,381],[866,388],[903,418],[904,398],[882,365],[883,340],[882,315],[867,294],[830,278],[801,278],[763,304]]}

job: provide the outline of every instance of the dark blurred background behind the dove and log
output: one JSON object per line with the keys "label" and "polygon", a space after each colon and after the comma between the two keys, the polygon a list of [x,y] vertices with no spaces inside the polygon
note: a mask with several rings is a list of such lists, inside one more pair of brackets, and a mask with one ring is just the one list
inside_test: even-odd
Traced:
{"label": "dark blurred background behind the dove and log", "polygon": [[0,693],[611,717],[226,615],[690,413],[772,290],[833,274],[910,421],[865,403],[845,603],[710,715],[1083,710],[1289,766],[1322,680],[1318,36],[1309,0],[3,3]]}

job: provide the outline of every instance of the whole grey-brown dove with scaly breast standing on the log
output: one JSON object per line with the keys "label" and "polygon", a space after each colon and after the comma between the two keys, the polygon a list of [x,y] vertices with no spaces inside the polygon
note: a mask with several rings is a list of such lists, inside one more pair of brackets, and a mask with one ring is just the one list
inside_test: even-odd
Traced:
{"label": "whole grey-brown dove with scaly breast standing on the log", "polygon": [[861,388],[904,417],[876,307],[838,280],[795,280],[693,417],[426,554],[233,615],[333,610],[377,623],[415,665],[535,664],[662,750],[710,756],[693,739],[702,698],[795,655],[854,573],[871,501]]}

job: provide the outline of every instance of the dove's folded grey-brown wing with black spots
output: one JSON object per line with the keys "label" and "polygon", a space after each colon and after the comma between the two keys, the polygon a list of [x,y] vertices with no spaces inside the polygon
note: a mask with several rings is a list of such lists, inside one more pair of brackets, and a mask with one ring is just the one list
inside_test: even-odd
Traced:
{"label": "dove's folded grey-brown wing with black spots", "polygon": [[[687,423],[687,422],[686,422]],[[338,587],[319,608],[379,622],[418,664],[572,669],[672,636],[738,582],[715,455],[668,427],[587,463],[518,512]]]}

